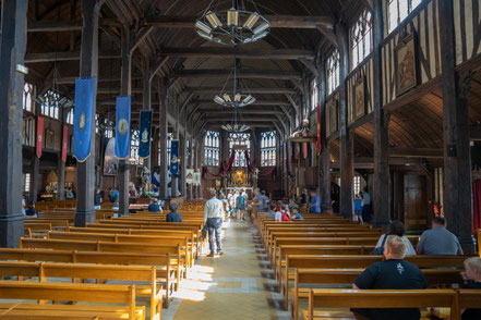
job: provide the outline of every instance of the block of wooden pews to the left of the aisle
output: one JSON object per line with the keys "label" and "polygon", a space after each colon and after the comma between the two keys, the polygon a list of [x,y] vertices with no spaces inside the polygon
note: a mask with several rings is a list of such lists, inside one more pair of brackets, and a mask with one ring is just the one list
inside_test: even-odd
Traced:
{"label": "block of wooden pews to the left of the aisle", "polygon": [[75,227],[71,201],[37,206],[20,248],[0,248],[0,317],[161,319],[203,247],[200,207],[187,202],[183,222],[167,223],[166,213],[113,218],[106,206]]}

